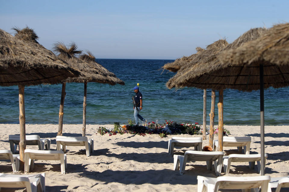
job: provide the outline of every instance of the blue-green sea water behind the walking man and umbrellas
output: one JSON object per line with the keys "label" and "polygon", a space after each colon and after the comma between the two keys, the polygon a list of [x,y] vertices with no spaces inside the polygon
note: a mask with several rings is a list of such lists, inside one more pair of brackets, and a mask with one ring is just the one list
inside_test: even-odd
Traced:
{"label": "blue-green sea water behind the walking man and umbrellas", "polygon": [[[90,82],[87,85],[86,124],[126,124],[134,119],[132,88],[139,83],[143,95],[141,116],[159,123],[203,122],[203,90],[167,89],[166,82],[175,73],[160,70],[173,60],[96,59],[125,81],[125,85]],[[61,84],[25,87],[26,123],[58,124]],[[64,124],[82,124],[83,83],[67,83]],[[289,88],[264,91],[265,125],[289,125]],[[218,123],[216,91],[215,125]],[[207,125],[210,122],[211,90],[207,90]],[[18,87],[0,87],[0,123],[19,123]],[[226,125],[259,125],[259,91],[224,90],[223,119]]]}

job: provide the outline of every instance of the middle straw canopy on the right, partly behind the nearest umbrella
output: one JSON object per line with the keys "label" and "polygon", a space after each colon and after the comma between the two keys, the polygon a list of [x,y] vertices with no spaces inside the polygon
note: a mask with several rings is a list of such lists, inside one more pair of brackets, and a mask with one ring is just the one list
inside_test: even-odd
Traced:
{"label": "middle straw canopy on the right, partly behind the nearest umbrella", "polygon": [[[226,89],[233,88],[235,85],[234,77],[229,78],[228,72],[235,70],[232,68],[223,70],[224,65],[217,58],[218,55],[230,49],[237,48],[247,41],[252,41],[259,38],[266,32],[264,28],[250,29],[245,32],[239,38],[237,38],[233,43],[225,46],[223,49],[215,52],[214,54],[208,55],[207,57],[201,58],[197,64],[182,71],[182,74],[174,79],[173,82],[168,82],[169,88],[172,87],[197,87],[197,88],[212,88],[212,89]],[[215,72],[216,71],[216,72]],[[237,70],[238,73],[239,70]],[[218,73],[219,75],[216,75]],[[243,82],[246,83],[246,82]],[[238,87],[239,90],[246,90],[246,86]],[[248,90],[249,91],[249,90]],[[251,91],[251,90],[250,90]]]}

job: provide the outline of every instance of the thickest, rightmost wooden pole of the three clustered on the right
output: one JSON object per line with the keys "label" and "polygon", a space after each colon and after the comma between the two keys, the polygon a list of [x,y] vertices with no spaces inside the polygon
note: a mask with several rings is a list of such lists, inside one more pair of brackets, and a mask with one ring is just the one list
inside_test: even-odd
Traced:
{"label": "thickest, rightmost wooden pole of the three clustered on the right", "polygon": [[223,151],[223,133],[224,133],[224,125],[223,125],[223,90],[219,90],[219,103],[218,103],[218,150]]}

